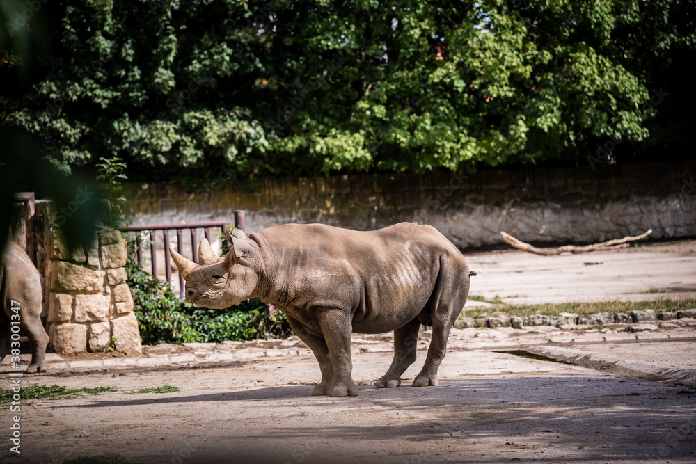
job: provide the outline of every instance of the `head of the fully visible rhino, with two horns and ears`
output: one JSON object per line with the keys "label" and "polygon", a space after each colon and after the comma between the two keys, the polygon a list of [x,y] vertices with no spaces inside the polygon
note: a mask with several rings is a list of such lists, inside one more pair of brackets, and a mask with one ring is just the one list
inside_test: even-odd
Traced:
{"label": "head of the fully visible rhino, with two horns and ears", "polygon": [[235,229],[227,234],[230,253],[217,257],[206,239],[198,246],[198,262],[189,261],[171,248],[172,259],[186,280],[186,301],[220,310],[253,297],[258,285],[258,244]]}

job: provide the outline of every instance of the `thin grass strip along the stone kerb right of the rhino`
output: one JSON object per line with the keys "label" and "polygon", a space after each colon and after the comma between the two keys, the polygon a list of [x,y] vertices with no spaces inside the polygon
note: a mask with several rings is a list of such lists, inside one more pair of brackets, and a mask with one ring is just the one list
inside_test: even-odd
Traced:
{"label": "thin grass strip along the stone kerb right of the rhino", "polygon": [[[469,298],[476,301],[480,300],[476,295]],[[487,302],[489,303],[489,302]],[[495,314],[505,314],[507,316],[533,316],[534,314],[546,314],[557,316],[561,312],[571,312],[574,314],[594,314],[596,312],[631,312],[639,310],[666,310],[681,311],[696,307],[696,298],[686,298],[684,300],[658,299],[653,301],[597,301],[594,303],[545,303],[541,305],[511,305],[508,303],[496,304],[493,307],[471,307],[464,309],[459,314],[459,319],[463,317],[489,317]]]}

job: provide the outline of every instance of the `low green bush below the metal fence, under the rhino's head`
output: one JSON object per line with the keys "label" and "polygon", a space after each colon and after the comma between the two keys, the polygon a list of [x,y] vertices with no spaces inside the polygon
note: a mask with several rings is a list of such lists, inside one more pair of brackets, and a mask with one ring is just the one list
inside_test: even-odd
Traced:
{"label": "low green bush below the metal fence, under the rhino's head", "polygon": [[224,342],[288,337],[290,325],[280,311],[264,320],[263,304],[254,298],[226,310],[209,310],[181,301],[171,287],[128,259],[128,285],[143,344]]}

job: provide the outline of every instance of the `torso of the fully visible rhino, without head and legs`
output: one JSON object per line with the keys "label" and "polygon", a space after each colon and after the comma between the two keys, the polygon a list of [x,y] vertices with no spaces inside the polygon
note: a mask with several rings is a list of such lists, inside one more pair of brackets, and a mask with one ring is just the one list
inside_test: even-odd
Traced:
{"label": "torso of the fully visible rhino, without head and legs", "polygon": [[428,225],[399,223],[362,232],[287,224],[255,235],[278,265],[281,293],[287,294],[284,306],[348,305],[354,323],[372,321],[375,333],[393,329],[390,321],[374,323],[385,312],[417,312],[425,305],[441,259],[453,261],[452,269],[468,279],[464,256]]}

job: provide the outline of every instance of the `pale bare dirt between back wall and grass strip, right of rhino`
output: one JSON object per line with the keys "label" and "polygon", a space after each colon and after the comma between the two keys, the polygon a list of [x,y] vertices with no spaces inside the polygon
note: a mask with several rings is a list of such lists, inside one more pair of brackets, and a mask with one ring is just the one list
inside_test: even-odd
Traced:
{"label": "pale bare dirt between back wall and grass strip, right of rhino", "polygon": [[696,241],[691,240],[578,255],[502,250],[475,253],[466,262],[478,273],[470,294],[500,296],[505,303],[696,297]]}

